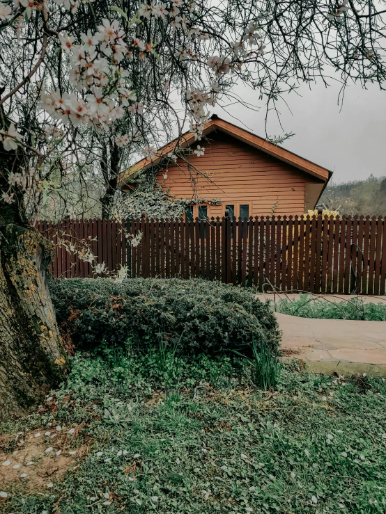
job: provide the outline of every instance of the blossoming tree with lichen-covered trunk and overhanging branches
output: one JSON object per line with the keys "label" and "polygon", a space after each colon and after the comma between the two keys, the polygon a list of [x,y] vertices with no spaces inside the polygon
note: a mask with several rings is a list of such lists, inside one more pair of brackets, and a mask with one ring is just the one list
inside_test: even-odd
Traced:
{"label": "blossoming tree with lichen-covered trunk and overhanging branches", "polygon": [[[299,82],[325,79],[332,68],[343,86],[353,79],[383,87],[377,6],[1,1],[1,416],[39,401],[67,369],[46,286],[49,246],[31,227],[47,196],[76,216],[66,188],[77,184],[84,201],[102,163],[111,200],[125,154],[140,147],[155,156],[155,140],[179,136],[187,120],[202,138],[210,108],[236,101],[236,81],[254,88],[267,112]],[[97,266],[93,255],[85,258]]]}

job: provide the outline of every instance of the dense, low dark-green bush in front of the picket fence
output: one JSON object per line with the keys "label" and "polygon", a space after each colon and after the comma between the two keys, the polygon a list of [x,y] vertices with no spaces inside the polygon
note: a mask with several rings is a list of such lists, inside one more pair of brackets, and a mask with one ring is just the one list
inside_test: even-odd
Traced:
{"label": "dense, low dark-green bush in front of the picket fence", "polygon": [[253,291],[204,280],[53,280],[56,316],[77,348],[102,340],[157,344],[181,351],[245,351],[252,342],[277,348],[280,333],[268,303]]}

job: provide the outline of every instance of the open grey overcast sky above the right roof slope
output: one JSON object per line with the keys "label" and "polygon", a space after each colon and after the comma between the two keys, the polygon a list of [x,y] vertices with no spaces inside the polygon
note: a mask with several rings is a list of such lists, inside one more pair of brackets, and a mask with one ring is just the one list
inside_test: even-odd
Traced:
{"label": "open grey overcast sky above the right roof slope", "polygon": [[[338,105],[339,86],[325,88],[322,84],[298,90],[286,96],[292,112],[281,104],[281,130],[275,114],[270,115],[268,135],[294,132],[283,147],[334,172],[334,182],[347,182],[386,175],[386,91],[373,86],[346,88],[343,106]],[[237,93],[251,104],[258,105],[257,93],[238,86]],[[261,104],[260,104],[261,105]],[[245,124],[245,128],[265,137],[262,109],[255,112],[240,106],[229,106],[225,112],[216,106],[222,118]]]}

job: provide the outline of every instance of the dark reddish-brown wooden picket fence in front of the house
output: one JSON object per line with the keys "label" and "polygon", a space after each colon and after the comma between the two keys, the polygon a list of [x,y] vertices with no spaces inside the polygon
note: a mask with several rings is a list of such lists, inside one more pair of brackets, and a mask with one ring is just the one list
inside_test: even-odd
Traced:
{"label": "dark reddish-brown wooden picket fence in front of the house", "polygon": [[[130,277],[203,278],[258,291],[385,294],[386,221],[373,216],[277,216],[38,222],[49,239],[87,240],[95,262]],[[137,247],[125,234],[139,234]],[[61,234],[61,236],[58,236]],[[65,245],[68,243],[65,243]],[[95,277],[93,267],[56,248],[55,277]]]}

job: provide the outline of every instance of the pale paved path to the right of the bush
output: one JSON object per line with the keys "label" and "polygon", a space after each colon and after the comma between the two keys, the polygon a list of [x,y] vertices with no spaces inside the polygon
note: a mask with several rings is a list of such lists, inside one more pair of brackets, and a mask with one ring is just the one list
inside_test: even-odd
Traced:
{"label": "pale paved path to the right of the bush", "polygon": [[386,376],[386,321],[346,321],[276,312],[286,358],[314,371]]}

